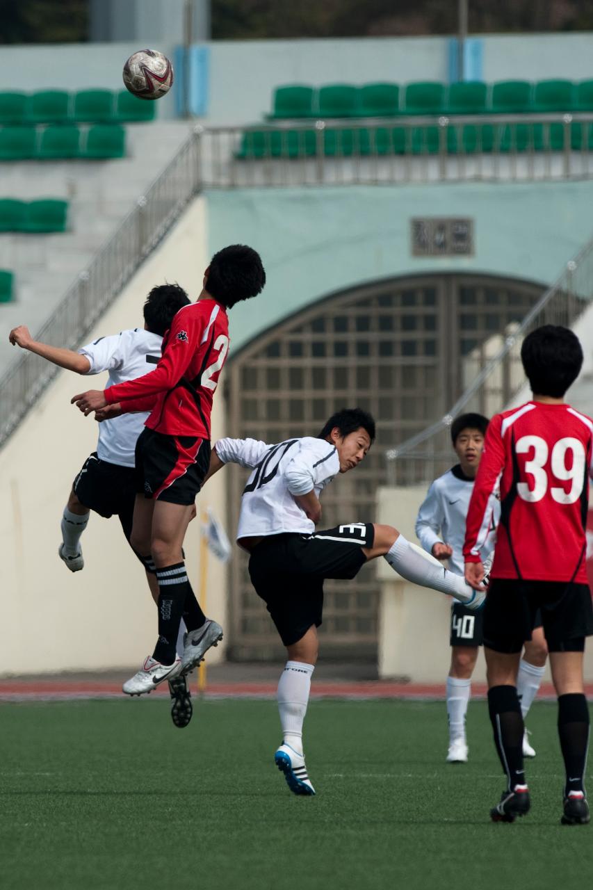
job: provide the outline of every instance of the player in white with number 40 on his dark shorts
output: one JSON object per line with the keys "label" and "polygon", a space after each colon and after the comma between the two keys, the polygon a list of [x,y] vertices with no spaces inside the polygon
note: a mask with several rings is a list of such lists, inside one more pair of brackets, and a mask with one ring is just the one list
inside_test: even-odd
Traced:
{"label": "player in white with number 40 on his dark shorts", "polygon": [[[416,534],[427,553],[439,560],[448,560],[449,568],[459,575],[465,570],[463,543],[466,537],[466,516],[474,490],[475,474],[482,457],[488,418],[481,414],[463,414],[451,425],[451,442],[459,464],[451,467],[431,484],[416,519]],[[500,499],[491,495],[489,522],[483,527],[480,553],[491,562],[496,541],[495,528],[500,521]],[[451,604],[451,667],[447,677],[447,715],[449,718],[448,763],[467,761],[466,715],[471,697],[478,647],[483,644],[483,613],[468,611],[462,603]],[[525,717],[540,688],[548,649],[536,621],[532,640],[525,643],[518,680],[518,694]],[[524,735],[524,755],[535,756]]]}

